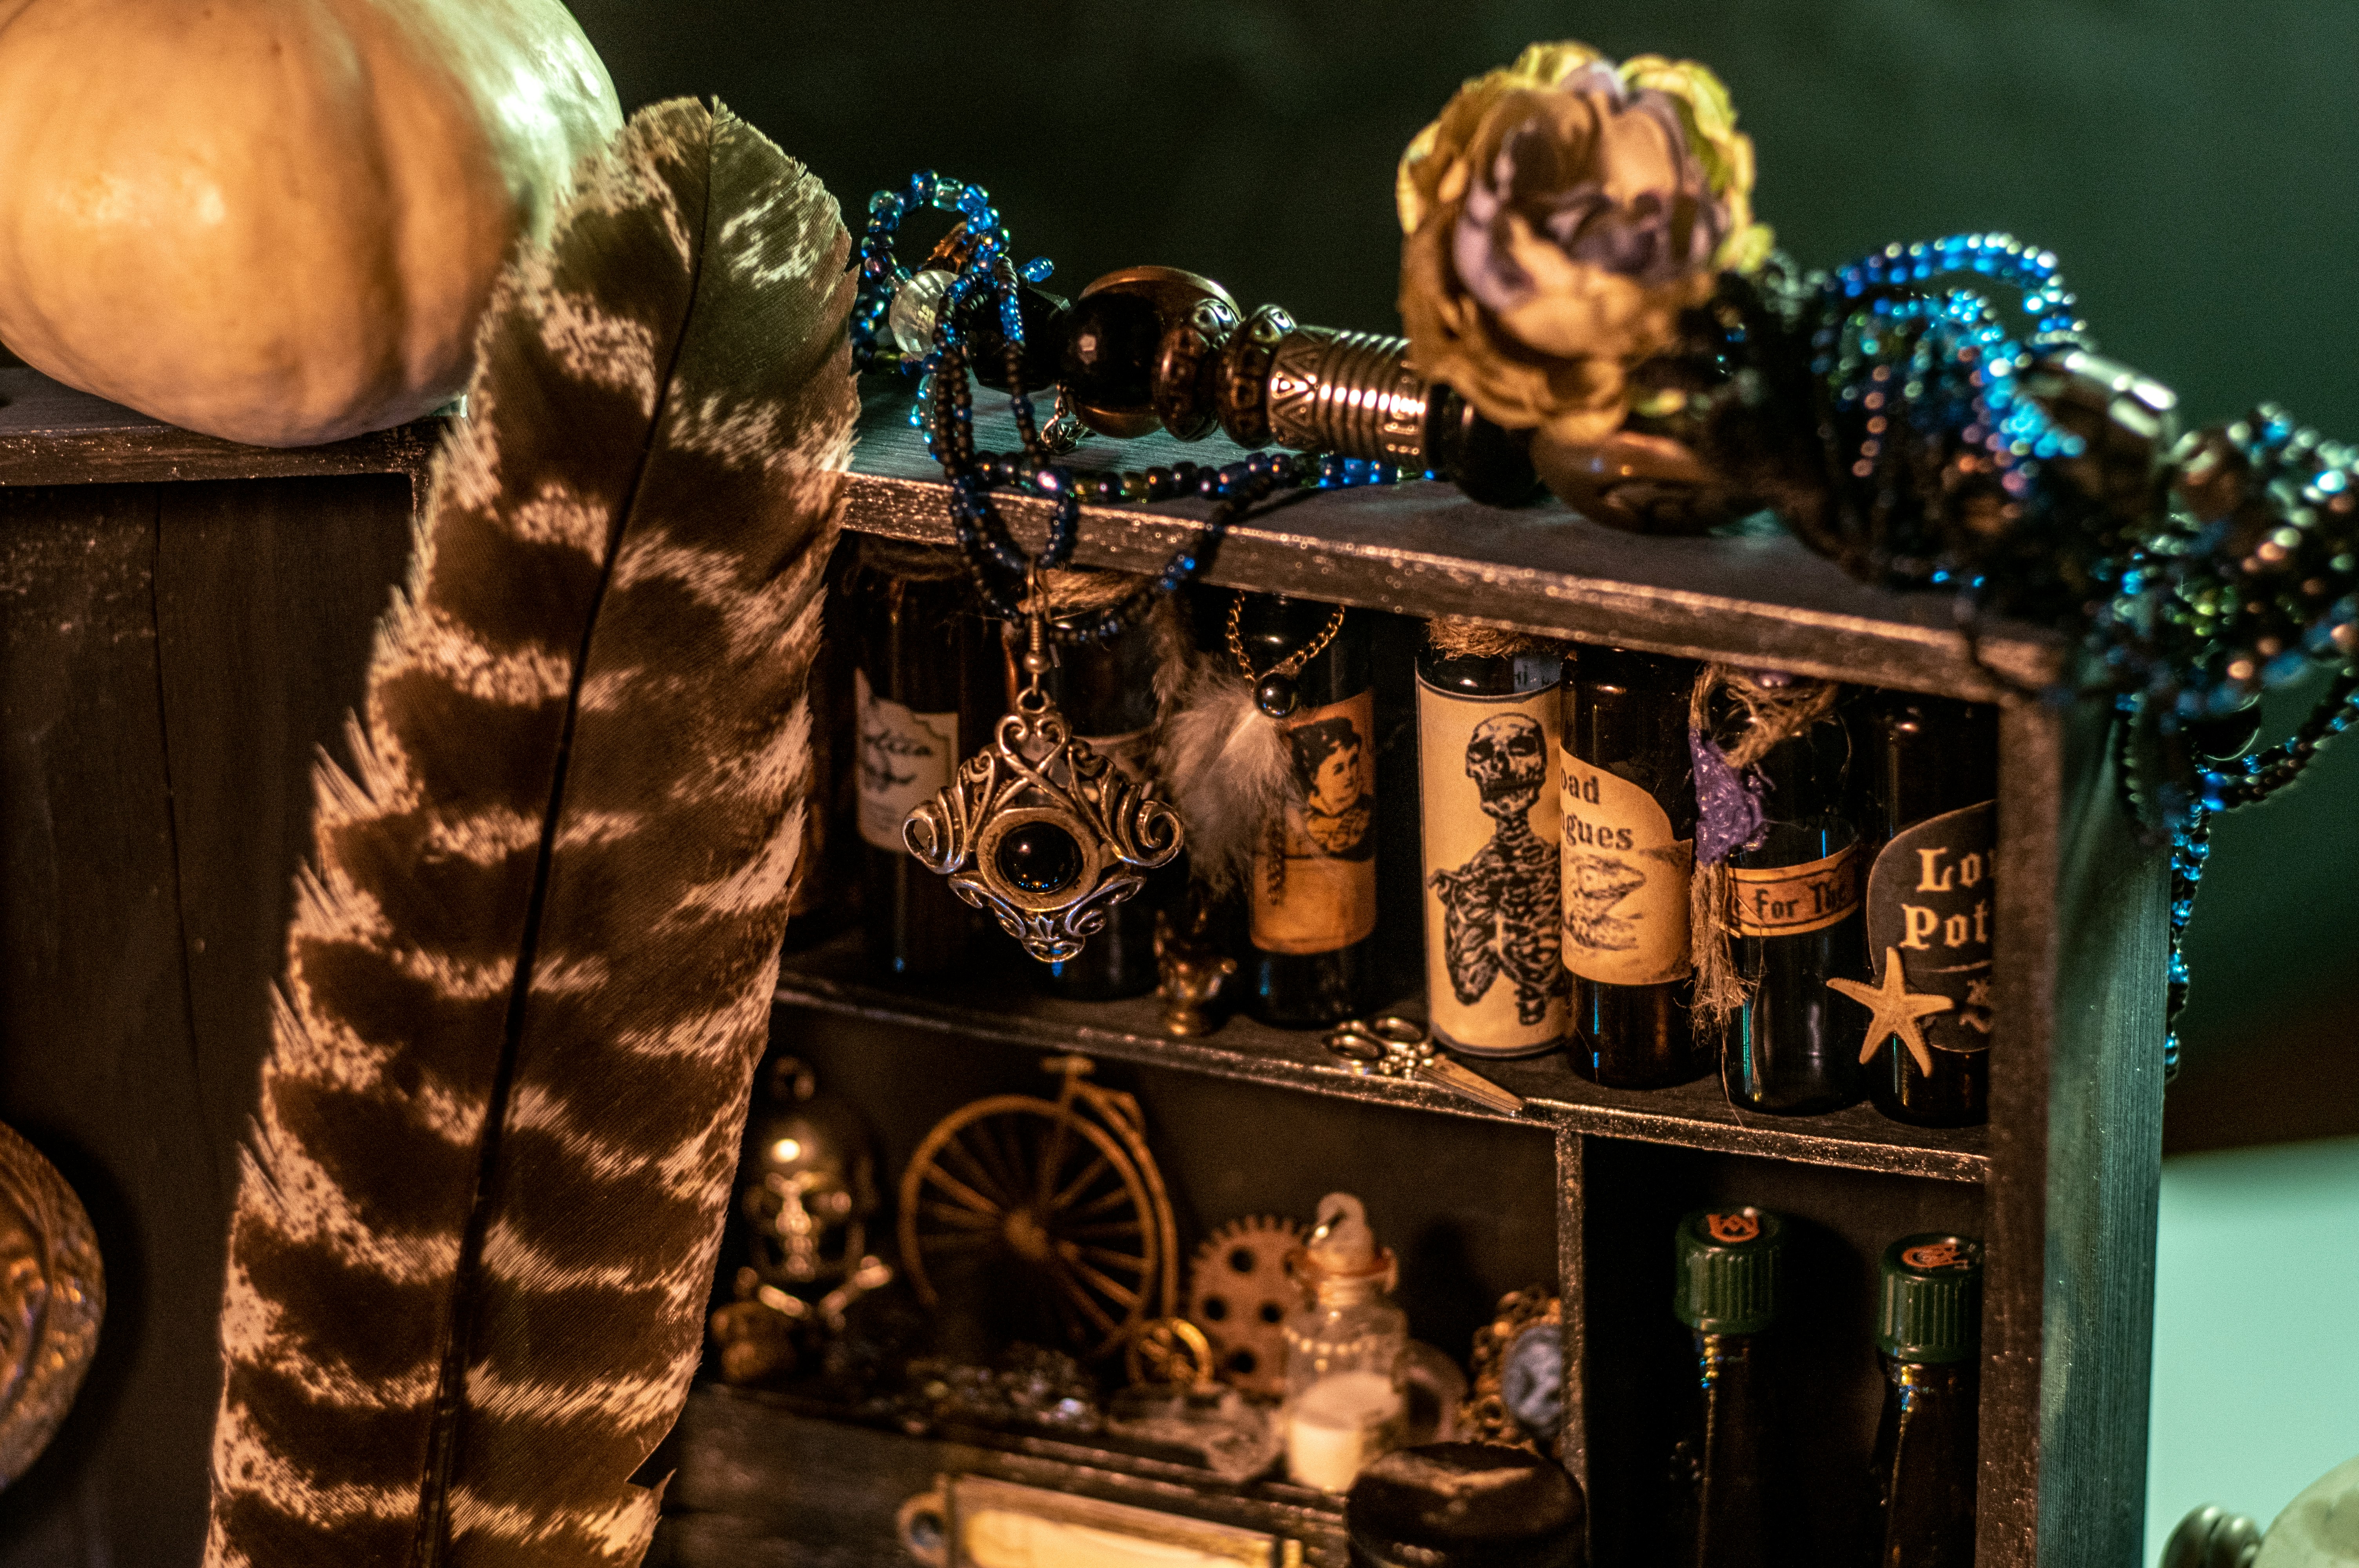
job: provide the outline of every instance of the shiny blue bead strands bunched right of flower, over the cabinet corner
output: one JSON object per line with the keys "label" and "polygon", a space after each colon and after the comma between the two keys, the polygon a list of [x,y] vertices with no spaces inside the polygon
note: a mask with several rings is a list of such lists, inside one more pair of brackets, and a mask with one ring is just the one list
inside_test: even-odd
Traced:
{"label": "shiny blue bead strands bunched right of flower, over the cabinet corner", "polygon": [[[1937,288],[1963,274],[2012,290],[2031,330],[2008,332],[1979,288]],[[1826,509],[1788,523],[1861,578],[1949,587],[1967,630],[1986,606],[2083,630],[2092,686],[2123,717],[2123,802],[2170,844],[2173,1075],[2210,818],[2286,788],[2359,722],[2359,448],[2265,406],[2151,453],[2107,505],[2076,481],[2088,436],[2026,389],[2045,365],[2102,363],[2055,255],[1967,233],[1802,283],[1783,321],[1736,309],[1713,344],[1734,377],[1781,328],[1807,330]],[[2236,759],[2239,714],[2312,663],[2342,670],[2302,726]]]}

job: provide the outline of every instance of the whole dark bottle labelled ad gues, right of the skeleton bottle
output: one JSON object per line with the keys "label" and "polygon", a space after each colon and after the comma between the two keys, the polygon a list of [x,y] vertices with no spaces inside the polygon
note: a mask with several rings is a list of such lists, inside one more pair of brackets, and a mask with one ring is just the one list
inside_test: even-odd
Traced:
{"label": "whole dark bottle labelled ad gues, right of the skeleton bottle", "polygon": [[1689,1023],[1696,785],[1684,658],[1581,648],[1564,681],[1564,967],[1573,1070],[1661,1089],[1713,1068]]}

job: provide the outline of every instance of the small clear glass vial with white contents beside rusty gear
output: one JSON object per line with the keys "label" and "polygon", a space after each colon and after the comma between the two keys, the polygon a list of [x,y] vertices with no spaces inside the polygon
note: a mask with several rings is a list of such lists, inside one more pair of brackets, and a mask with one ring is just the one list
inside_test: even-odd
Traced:
{"label": "small clear glass vial with white contents beside rusty gear", "polygon": [[1408,1436],[1401,1358],[1408,1316],[1392,1304],[1397,1264],[1378,1250],[1352,1193],[1319,1200],[1319,1226],[1293,1257],[1312,1299],[1286,1318],[1286,1474],[1342,1493]]}

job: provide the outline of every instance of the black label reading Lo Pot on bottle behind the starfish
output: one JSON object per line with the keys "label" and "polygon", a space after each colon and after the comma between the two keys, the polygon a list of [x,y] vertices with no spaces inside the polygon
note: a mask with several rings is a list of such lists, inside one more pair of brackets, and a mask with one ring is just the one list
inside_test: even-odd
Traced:
{"label": "black label reading Lo Pot on bottle behind the starfish", "polygon": [[1937,1052],[1991,1049],[1991,887],[1998,806],[1944,811],[1899,832],[1868,870],[1868,953],[1901,955],[1908,990],[1949,997],[1918,1021]]}

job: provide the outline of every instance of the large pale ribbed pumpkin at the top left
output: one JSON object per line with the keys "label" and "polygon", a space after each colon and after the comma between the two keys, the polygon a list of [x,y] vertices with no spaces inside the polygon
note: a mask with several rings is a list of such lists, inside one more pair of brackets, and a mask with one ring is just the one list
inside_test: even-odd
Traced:
{"label": "large pale ribbed pumpkin at the top left", "polygon": [[559,0],[0,0],[0,342],[231,441],[413,420],[620,123]]}

